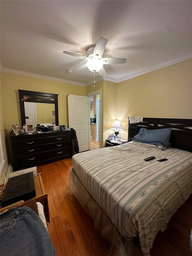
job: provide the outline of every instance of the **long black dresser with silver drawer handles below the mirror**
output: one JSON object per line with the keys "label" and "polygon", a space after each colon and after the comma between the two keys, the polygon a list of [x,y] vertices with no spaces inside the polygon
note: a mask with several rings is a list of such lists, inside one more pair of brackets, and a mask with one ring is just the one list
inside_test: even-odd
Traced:
{"label": "long black dresser with silver drawer handles below the mirror", "polygon": [[13,171],[71,157],[71,131],[11,134]]}

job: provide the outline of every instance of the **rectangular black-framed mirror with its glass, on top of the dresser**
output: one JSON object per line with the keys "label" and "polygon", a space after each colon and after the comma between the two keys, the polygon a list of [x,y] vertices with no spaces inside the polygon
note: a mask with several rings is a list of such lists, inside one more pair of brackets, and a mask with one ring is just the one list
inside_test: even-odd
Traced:
{"label": "rectangular black-framed mirror with its glass, on top of the dresser", "polygon": [[22,125],[53,122],[58,125],[58,94],[18,91]]}

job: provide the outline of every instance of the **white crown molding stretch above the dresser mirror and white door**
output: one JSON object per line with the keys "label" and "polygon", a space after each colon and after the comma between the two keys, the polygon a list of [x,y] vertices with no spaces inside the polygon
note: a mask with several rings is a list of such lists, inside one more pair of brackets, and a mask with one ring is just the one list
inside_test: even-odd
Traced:
{"label": "white crown molding stretch above the dresser mirror and white door", "polygon": [[10,68],[4,68],[2,66],[2,64],[0,65],[0,70],[1,70],[1,72],[4,72],[4,73],[10,73],[10,74],[21,75],[21,76],[26,76],[26,77],[35,77],[35,78],[39,78],[39,79],[44,79],[44,80],[49,80],[49,81],[54,81],[54,82],[59,82],[59,83],[68,83],[68,84],[84,86],[84,87],[86,86],[85,83],[78,83],[78,82],[74,82],[74,81],[70,81],[70,80],[64,80],[64,79],[55,78],[55,77],[47,77],[47,76],[38,75],[38,74],[34,74],[34,73],[28,73],[28,72],[14,70],[14,69],[10,69]]}

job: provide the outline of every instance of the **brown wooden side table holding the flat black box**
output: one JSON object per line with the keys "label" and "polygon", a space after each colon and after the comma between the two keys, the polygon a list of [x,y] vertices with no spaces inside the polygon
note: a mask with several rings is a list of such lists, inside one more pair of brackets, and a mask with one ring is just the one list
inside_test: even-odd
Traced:
{"label": "brown wooden side table holding the flat black box", "polygon": [[[29,201],[34,199],[35,202],[42,203],[42,205],[44,207],[44,214],[45,214],[46,221],[50,222],[50,219],[49,219],[49,205],[48,205],[47,193],[45,193],[45,188],[44,188],[44,185],[43,185],[43,182],[42,182],[42,179],[41,179],[41,173],[38,173],[38,175],[34,177],[34,182],[35,182],[36,196],[31,198],[31,199],[29,199],[29,200],[26,200],[26,201],[19,201],[19,202],[15,203],[14,206],[12,205],[12,207],[19,206],[22,203],[26,203],[26,202],[29,202]],[[4,185],[0,185],[0,188],[2,189],[3,186]],[[3,194],[4,194],[4,192],[1,194],[1,197],[3,197]]]}

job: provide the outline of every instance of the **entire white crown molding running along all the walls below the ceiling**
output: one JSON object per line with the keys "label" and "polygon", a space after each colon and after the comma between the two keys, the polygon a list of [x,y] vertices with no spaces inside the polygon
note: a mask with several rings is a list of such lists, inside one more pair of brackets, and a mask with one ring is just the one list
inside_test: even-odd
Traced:
{"label": "entire white crown molding running along all the walls below the ceiling", "polygon": [[[191,59],[192,58],[192,53],[189,53],[187,55],[181,56],[177,59],[174,59],[172,61],[169,62],[165,62],[162,63],[160,65],[151,67],[151,68],[146,68],[137,72],[134,72],[132,74],[129,74],[127,76],[124,77],[120,77],[120,78],[114,78],[114,77],[109,77],[109,76],[105,76],[105,77],[97,77],[95,79],[95,82],[99,82],[101,80],[107,80],[107,81],[111,81],[111,82],[115,82],[115,83],[119,83],[134,77],[138,77],[140,75],[149,73],[151,71],[155,71],[157,69],[160,68],[165,68],[167,66],[176,64],[178,62],[187,60],[187,59]],[[28,72],[24,72],[24,71],[19,71],[19,70],[14,70],[14,69],[10,69],[10,68],[4,68],[0,62],[0,71],[4,72],[4,73],[10,73],[10,74],[16,74],[16,75],[22,75],[22,76],[27,76],[27,77],[35,77],[35,78],[40,78],[40,79],[44,79],[44,80],[50,80],[50,81],[55,81],[55,82],[59,82],[59,83],[68,83],[68,84],[73,84],[73,85],[78,85],[78,86],[90,86],[93,84],[93,80],[89,81],[88,83],[78,83],[78,82],[74,82],[74,81],[70,81],[70,80],[64,80],[64,79],[60,79],[60,78],[55,78],[55,77],[47,77],[47,76],[43,76],[43,75],[38,75],[38,74],[33,74],[33,73],[28,73]]]}

